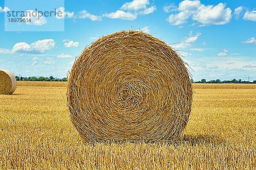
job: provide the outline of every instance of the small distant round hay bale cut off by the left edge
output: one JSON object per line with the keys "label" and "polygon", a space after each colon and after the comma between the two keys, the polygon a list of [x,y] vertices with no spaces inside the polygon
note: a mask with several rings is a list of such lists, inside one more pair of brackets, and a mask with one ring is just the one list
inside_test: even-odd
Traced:
{"label": "small distant round hay bale cut off by the left edge", "polygon": [[17,81],[12,72],[0,70],[0,94],[13,94],[17,87]]}

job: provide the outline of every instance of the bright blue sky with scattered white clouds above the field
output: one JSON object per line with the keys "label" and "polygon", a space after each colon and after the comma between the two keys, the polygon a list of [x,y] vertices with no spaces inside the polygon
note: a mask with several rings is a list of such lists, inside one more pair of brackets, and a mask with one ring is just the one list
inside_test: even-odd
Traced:
{"label": "bright blue sky with scattered white clouds above the field", "polygon": [[[132,27],[167,43],[180,42],[171,46],[189,64],[195,80],[256,79],[255,0],[65,0],[64,5],[59,0],[54,6],[64,15],[55,19],[64,25],[41,17],[23,23],[34,31],[19,30],[23,25],[5,31],[5,15],[15,8],[11,2],[0,0],[0,69],[15,75],[66,77],[87,45]],[[49,3],[37,8],[46,7]],[[64,31],[51,31],[58,27]]]}

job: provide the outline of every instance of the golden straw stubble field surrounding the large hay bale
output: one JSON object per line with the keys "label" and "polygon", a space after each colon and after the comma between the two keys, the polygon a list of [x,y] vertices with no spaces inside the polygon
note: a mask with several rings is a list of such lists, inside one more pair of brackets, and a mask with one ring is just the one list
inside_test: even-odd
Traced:
{"label": "golden straw stubble field surrounding the large hay bale", "polygon": [[256,85],[194,85],[179,142],[84,143],[64,82],[0,95],[0,169],[256,169]]}

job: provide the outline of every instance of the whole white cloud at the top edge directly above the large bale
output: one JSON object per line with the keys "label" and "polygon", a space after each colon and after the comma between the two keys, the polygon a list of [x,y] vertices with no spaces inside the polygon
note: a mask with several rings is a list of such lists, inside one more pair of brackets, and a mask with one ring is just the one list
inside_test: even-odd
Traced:
{"label": "whole white cloud at the top edge directly above the large bale", "polygon": [[103,17],[122,20],[135,20],[139,14],[151,14],[157,9],[156,6],[148,7],[148,5],[149,0],[133,0],[123,4],[122,7],[115,12],[103,14]]}

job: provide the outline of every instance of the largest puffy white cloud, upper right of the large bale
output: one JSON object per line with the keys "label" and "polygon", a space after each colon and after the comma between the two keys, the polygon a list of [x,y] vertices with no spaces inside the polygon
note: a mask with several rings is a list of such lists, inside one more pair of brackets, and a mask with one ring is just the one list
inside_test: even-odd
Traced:
{"label": "largest puffy white cloud, upper right of the large bale", "polygon": [[[166,10],[167,11],[167,10]],[[225,8],[223,3],[216,6],[201,4],[199,0],[183,0],[177,8],[179,13],[170,14],[167,21],[175,26],[186,23],[191,17],[192,20],[201,23],[201,26],[215,24],[223,25],[231,20],[231,9]]]}

